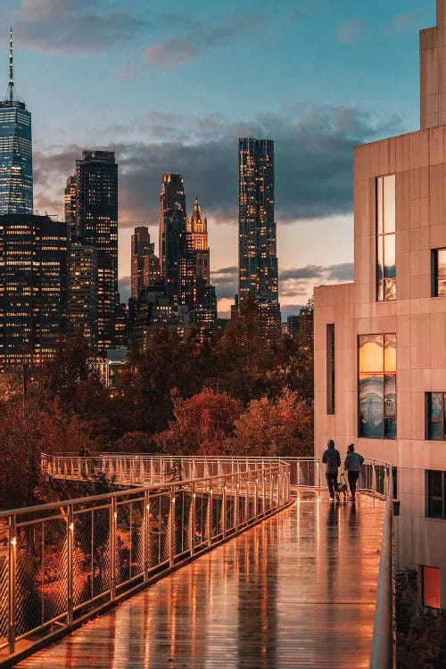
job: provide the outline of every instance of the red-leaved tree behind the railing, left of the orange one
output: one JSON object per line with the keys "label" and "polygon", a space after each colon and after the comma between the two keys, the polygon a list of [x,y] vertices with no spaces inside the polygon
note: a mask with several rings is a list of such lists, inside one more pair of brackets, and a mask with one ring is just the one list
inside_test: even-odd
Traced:
{"label": "red-leaved tree behind the railing, left of the orange one", "polygon": [[226,392],[203,389],[191,398],[174,396],[174,419],[154,441],[166,453],[219,455],[240,415],[240,403]]}

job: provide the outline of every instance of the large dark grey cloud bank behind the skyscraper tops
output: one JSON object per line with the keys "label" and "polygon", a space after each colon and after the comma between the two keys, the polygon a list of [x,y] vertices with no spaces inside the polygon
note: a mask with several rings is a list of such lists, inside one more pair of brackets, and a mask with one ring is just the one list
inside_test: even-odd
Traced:
{"label": "large dark grey cloud bank behind the skyscraper tops", "polygon": [[236,224],[238,137],[257,136],[275,140],[279,225],[351,213],[353,146],[393,135],[401,124],[397,119],[376,122],[372,113],[290,104],[282,114],[261,114],[238,125],[219,114],[146,114],[128,128],[101,128],[101,136],[116,137],[114,144],[92,142],[36,152],[36,206],[43,206],[44,196],[54,202],[59,198],[62,214],[63,188],[76,157],[82,148],[103,148],[114,150],[119,164],[120,227],[142,221],[157,225],[161,175],[168,172],[184,174],[189,210],[196,195],[208,218]]}

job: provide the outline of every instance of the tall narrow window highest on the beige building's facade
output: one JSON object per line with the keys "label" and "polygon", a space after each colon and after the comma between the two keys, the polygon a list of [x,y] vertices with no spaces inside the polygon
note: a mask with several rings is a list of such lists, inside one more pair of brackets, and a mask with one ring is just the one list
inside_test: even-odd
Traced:
{"label": "tall narrow window highest on the beige building's facade", "polygon": [[376,300],[396,299],[395,175],[376,179]]}

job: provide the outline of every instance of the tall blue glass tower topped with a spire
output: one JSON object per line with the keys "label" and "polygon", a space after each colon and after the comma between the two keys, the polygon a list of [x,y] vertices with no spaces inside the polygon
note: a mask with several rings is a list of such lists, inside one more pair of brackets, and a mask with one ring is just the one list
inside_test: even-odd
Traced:
{"label": "tall blue glass tower topped with a spire", "polygon": [[12,30],[9,84],[0,102],[0,214],[32,214],[31,114],[15,94],[12,70]]}

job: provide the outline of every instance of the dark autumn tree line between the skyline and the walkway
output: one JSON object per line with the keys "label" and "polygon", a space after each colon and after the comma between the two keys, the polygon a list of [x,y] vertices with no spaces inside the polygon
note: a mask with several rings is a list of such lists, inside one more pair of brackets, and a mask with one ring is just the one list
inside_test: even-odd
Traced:
{"label": "dark autumn tree line between the skyline and the walkway", "polygon": [[[51,360],[29,370],[26,398],[20,375],[2,375],[1,506],[47,499],[42,451],[308,453],[311,302],[301,324],[298,334],[268,343],[247,301],[222,333],[182,340],[161,328],[145,353],[130,351],[116,389],[101,383],[83,340],[61,341]],[[258,443],[260,424],[268,430]]]}

